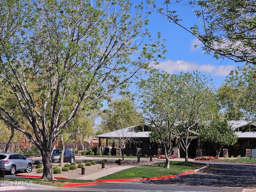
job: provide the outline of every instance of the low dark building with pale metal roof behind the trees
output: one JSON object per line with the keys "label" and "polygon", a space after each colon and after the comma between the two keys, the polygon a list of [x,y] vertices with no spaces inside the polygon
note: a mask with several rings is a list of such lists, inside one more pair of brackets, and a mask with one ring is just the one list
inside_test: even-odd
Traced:
{"label": "low dark building with pale metal roof behind the trees", "polygon": [[[245,120],[232,120],[228,121],[230,126],[234,130],[236,130],[236,135],[238,136],[238,142],[234,144],[234,146],[227,146],[229,156],[247,156],[248,152],[246,153],[246,149],[254,149],[256,148],[256,124],[253,124],[250,121]],[[115,146],[114,140],[122,137],[129,137],[133,138],[126,144],[125,154],[126,155],[136,155],[140,154],[147,154],[147,155],[157,155],[160,151],[157,144],[150,142],[150,126],[147,124],[135,125],[128,128],[123,128],[119,130],[114,130],[112,132],[104,133],[97,135],[96,137],[99,138],[99,144],[101,143],[100,140],[105,140],[105,147],[104,147],[104,154],[107,152],[112,152],[113,155],[116,154],[116,150],[111,150],[118,148]],[[200,136],[199,134],[197,134]],[[112,146],[109,146],[108,141],[112,140]],[[102,147],[102,146],[99,146]],[[198,149],[202,149],[202,155],[211,155],[215,156],[216,152],[213,150],[210,143],[200,142],[200,138],[195,139],[194,142],[190,144],[189,147],[189,154],[190,156],[196,156]],[[180,150],[180,157],[183,156],[184,152],[182,149]]]}

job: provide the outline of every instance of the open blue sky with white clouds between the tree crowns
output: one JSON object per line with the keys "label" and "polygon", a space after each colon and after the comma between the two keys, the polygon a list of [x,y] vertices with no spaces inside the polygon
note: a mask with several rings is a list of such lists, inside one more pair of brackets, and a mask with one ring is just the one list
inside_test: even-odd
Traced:
{"label": "open blue sky with white clouds between the tree crowns", "polygon": [[[158,1],[158,6],[163,7],[162,2],[162,0]],[[177,14],[181,16],[182,24],[188,28],[198,23],[189,6],[177,7]],[[194,48],[194,45],[200,42],[186,30],[164,20],[160,14],[152,12],[149,19],[147,28],[150,33],[156,36],[157,32],[161,32],[162,38],[166,39],[165,45],[168,52],[165,54],[166,59],[160,61],[159,68],[161,70],[170,74],[198,70],[202,74],[210,76],[214,85],[219,87],[230,71],[237,68],[232,60],[216,60],[205,54],[201,46]]]}

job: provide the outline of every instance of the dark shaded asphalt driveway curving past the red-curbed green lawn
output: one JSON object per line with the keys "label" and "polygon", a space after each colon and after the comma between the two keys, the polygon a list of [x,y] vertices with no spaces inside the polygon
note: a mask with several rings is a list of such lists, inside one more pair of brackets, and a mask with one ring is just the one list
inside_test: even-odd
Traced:
{"label": "dark shaded asphalt driveway curving past the red-curbed green lawn", "polygon": [[256,188],[256,165],[209,162],[208,168],[193,174],[165,180],[144,181],[143,183],[175,186]]}

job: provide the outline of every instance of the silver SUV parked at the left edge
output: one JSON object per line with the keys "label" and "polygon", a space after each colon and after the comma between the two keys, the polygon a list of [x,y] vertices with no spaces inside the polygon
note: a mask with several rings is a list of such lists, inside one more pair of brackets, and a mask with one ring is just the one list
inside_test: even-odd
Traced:
{"label": "silver SUV parked at the left edge", "polygon": [[16,171],[32,171],[32,161],[19,153],[0,153],[0,169],[10,171],[15,174]]}

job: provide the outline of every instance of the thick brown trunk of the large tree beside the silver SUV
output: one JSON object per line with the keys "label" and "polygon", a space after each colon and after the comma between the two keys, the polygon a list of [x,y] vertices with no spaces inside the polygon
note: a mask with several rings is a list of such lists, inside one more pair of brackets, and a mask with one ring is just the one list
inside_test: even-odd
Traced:
{"label": "thick brown trunk of the large tree beside the silver SUV", "polygon": [[52,169],[52,158],[51,158],[51,151],[49,150],[42,150],[42,162],[44,165],[44,171],[41,179],[43,180],[55,180],[53,177],[53,169]]}

